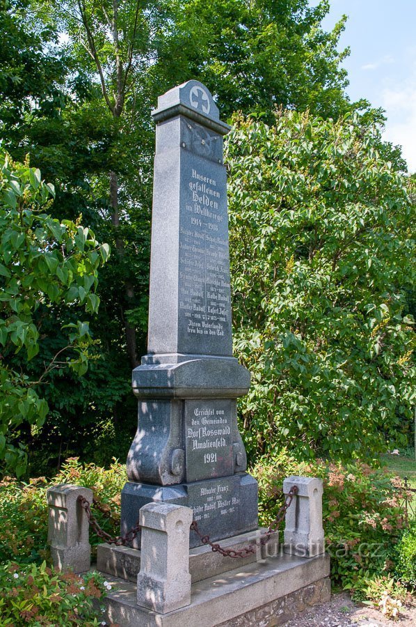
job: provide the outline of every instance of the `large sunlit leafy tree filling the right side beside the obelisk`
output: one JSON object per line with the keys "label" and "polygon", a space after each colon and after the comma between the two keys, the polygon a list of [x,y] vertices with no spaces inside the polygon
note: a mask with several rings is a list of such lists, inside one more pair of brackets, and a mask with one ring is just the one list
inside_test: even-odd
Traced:
{"label": "large sunlit leafy tree filling the right side beside the obelisk", "polygon": [[376,123],[281,111],[227,141],[234,348],[252,460],[365,457],[415,403],[415,205]]}

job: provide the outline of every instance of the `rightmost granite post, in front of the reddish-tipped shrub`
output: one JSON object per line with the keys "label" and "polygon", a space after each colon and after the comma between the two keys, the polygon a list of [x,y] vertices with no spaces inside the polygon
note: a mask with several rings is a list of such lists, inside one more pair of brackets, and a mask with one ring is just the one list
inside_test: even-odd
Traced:
{"label": "rightmost granite post, in front of the reddish-tipped shrub", "polygon": [[322,481],[315,477],[287,477],[283,492],[298,487],[286,512],[285,553],[315,557],[325,552],[322,527]]}

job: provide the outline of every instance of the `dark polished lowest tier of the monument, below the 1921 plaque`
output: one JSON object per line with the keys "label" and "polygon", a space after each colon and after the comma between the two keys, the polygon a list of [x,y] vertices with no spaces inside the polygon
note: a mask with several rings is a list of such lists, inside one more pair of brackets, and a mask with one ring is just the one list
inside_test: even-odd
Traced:
{"label": "dark polished lowest tier of the monument, below the 1921 plaque", "polygon": [[[209,535],[211,541],[255,531],[258,527],[257,481],[246,472],[175,486],[128,481],[121,493],[122,535],[136,525],[141,507],[152,502],[191,507],[200,532]],[[190,532],[190,547],[201,544],[197,534]],[[138,534],[131,547],[140,546],[141,534]]]}

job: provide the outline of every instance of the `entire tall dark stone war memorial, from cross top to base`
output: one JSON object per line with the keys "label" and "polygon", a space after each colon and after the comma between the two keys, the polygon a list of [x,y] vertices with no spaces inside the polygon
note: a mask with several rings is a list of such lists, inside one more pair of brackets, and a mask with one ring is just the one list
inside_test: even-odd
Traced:
{"label": "entire tall dark stone war memorial, from cross top to base", "polygon": [[[237,426],[250,373],[232,357],[223,164],[230,127],[197,81],[161,96],[153,117],[148,354],[133,372],[138,429],[121,533],[157,502],[193,509],[200,531],[219,540],[257,529],[257,483],[246,473]],[[190,540],[200,544],[194,533]]]}

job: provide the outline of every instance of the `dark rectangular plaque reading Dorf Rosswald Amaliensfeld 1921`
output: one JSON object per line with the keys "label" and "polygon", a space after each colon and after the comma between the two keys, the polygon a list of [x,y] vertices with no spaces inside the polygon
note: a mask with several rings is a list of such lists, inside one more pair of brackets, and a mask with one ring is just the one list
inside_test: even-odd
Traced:
{"label": "dark rectangular plaque reading Dorf Rosswald Amaliensfeld 1921", "polygon": [[185,401],[186,481],[233,474],[231,401]]}

